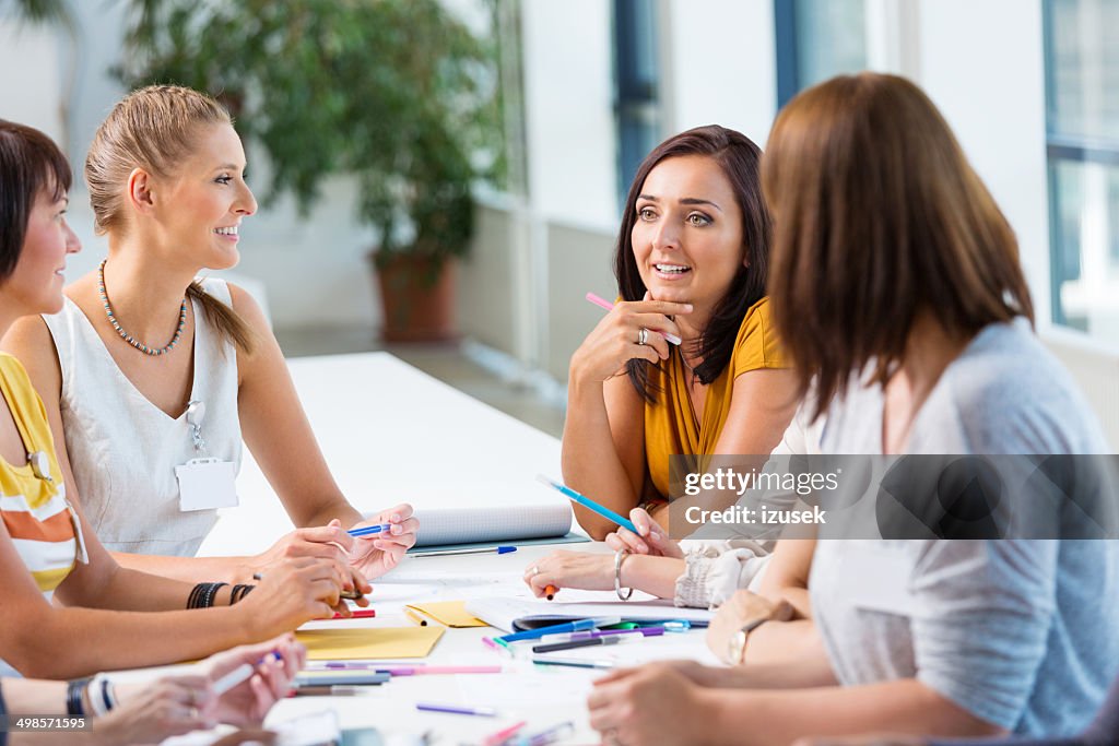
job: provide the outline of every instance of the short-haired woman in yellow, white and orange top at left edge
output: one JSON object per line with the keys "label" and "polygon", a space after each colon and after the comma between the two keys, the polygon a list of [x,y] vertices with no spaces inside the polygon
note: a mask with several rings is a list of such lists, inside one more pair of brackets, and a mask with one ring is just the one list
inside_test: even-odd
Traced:
{"label": "short-haired woman in yellow, white and orange top at left edge", "polygon": [[[81,249],[66,225],[70,179],[46,135],[0,120],[0,334],[62,306],[66,257]],[[0,394],[0,672],[171,663],[348,613],[340,593],[351,579],[319,557],[282,560],[244,596],[207,584],[204,605],[217,608],[188,611],[194,584],[121,567],[67,500],[46,409],[8,355]]]}

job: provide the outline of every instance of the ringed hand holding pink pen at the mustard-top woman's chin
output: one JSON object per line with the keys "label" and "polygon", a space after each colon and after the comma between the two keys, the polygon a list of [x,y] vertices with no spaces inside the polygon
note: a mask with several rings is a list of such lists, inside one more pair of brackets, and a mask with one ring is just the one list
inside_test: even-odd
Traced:
{"label": "ringed hand holding pink pen at the mustard-top woman's chin", "polygon": [[604,381],[617,375],[629,360],[660,362],[668,358],[669,341],[679,341],[680,329],[670,317],[692,313],[690,303],[667,301],[622,301],[611,305],[593,293],[595,305],[610,313],[591,330],[571,359],[575,380]]}

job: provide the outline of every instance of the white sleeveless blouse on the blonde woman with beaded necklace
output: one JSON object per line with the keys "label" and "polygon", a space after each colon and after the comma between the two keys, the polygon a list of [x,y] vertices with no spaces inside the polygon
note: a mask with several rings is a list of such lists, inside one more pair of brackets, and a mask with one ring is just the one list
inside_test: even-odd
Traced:
{"label": "white sleeveless blouse on the blonde woman with beaded necklace", "polygon": [[[232,305],[223,280],[205,280],[207,294]],[[200,455],[241,469],[237,353],[194,304],[191,400],[206,404],[206,452],[195,451],[186,412],[169,417],[116,366],[85,313],[68,298],[44,315],[62,367],[62,417],[78,500],[102,544],[113,551],[192,557],[217,521],[216,510],[179,510],[175,468]],[[98,319],[98,321],[101,321]],[[107,323],[107,319],[104,320]],[[189,353],[177,348],[175,353]],[[138,352],[139,355],[139,352]]]}

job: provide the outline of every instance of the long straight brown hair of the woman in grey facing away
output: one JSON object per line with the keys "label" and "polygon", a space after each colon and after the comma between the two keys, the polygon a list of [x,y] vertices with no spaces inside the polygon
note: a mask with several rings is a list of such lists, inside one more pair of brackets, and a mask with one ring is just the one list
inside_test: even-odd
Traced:
{"label": "long straight brown hair of the woman in grey facing away", "polygon": [[885,384],[919,313],[967,336],[1033,321],[1009,223],[909,81],[863,73],[798,95],[773,124],[762,185],[774,321],[801,394],[815,378],[817,417],[872,360]]}

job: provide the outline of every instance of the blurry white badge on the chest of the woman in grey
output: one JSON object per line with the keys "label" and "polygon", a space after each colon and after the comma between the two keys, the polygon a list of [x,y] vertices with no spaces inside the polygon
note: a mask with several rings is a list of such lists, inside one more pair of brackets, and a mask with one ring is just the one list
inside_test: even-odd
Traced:
{"label": "blurry white badge on the chest of the woman in grey", "polygon": [[913,555],[904,545],[852,541],[843,558],[844,591],[856,608],[899,616],[916,613],[916,596],[910,593]]}

